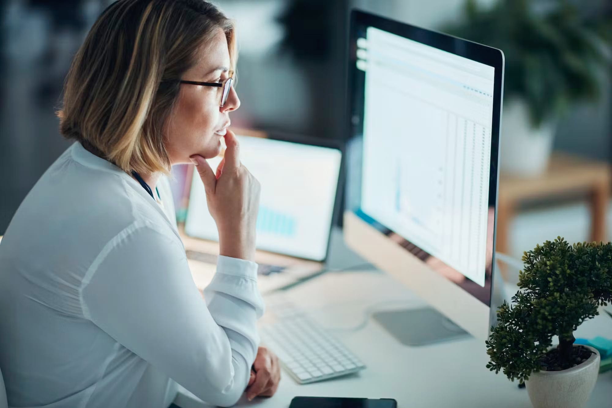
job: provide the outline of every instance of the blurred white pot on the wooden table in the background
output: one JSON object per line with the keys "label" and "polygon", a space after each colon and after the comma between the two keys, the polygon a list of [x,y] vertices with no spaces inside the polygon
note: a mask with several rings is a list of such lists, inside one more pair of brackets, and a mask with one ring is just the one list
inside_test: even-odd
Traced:
{"label": "blurred white pot on the wooden table in the background", "polygon": [[504,104],[501,121],[499,168],[502,172],[533,177],[545,172],[553,150],[556,123],[531,126],[527,104],[511,99]]}

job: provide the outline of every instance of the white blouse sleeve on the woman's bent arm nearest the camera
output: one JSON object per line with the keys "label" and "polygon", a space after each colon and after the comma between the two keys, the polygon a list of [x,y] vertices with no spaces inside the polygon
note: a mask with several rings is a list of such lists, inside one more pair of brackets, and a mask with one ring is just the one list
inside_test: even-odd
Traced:
{"label": "white blouse sleeve on the woman's bent arm nearest the camera", "polygon": [[198,292],[182,247],[146,225],[111,240],[86,274],[85,317],[203,401],[231,406],[247,387],[263,314],[257,264],[219,257]]}

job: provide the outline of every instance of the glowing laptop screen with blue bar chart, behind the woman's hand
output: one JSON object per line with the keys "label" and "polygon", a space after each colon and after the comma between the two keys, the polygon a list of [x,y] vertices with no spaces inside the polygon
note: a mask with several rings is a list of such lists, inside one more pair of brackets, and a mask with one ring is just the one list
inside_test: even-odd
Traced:
{"label": "glowing laptop screen with blue bar chart, behind the woman's hand", "polygon": [[[323,261],[338,188],[341,153],[335,148],[237,136],[242,164],[261,184],[257,249]],[[209,159],[213,171],[222,155]],[[218,241],[206,192],[193,172],[185,233]]]}

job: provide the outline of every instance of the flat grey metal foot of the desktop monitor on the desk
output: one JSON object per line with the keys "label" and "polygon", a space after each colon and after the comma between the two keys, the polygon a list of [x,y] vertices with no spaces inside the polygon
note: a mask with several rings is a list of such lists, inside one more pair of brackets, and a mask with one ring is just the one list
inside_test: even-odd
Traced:
{"label": "flat grey metal foot of the desktop monitor on the desk", "polygon": [[376,312],[373,317],[406,346],[428,346],[470,336],[433,308]]}

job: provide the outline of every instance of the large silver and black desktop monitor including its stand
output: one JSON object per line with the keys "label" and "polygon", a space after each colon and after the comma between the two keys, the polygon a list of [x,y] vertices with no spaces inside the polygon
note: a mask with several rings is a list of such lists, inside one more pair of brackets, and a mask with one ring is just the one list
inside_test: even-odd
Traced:
{"label": "large silver and black desktop monitor including its stand", "polygon": [[348,69],[345,241],[431,306],[379,322],[406,344],[486,339],[502,51],[354,10]]}

